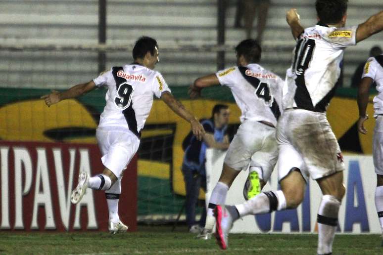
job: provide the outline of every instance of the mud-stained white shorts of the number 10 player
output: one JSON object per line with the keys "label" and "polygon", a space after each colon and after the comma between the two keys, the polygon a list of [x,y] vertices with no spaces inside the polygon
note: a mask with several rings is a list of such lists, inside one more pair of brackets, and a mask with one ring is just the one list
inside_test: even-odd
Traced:
{"label": "mud-stained white shorts of the number 10 player", "polygon": [[316,180],[344,170],[343,158],[326,113],[286,110],[278,121],[278,179],[293,168]]}

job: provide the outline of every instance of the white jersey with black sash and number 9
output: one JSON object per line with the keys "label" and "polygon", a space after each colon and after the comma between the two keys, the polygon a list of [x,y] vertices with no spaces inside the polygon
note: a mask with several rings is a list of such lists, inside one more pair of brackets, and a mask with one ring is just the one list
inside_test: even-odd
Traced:
{"label": "white jersey with black sash and number 9", "polygon": [[162,92],[170,92],[159,72],[139,64],[113,67],[93,81],[96,86],[108,88],[98,127],[129,129],[138,136],[149,115],[153,95],[160,98]]}

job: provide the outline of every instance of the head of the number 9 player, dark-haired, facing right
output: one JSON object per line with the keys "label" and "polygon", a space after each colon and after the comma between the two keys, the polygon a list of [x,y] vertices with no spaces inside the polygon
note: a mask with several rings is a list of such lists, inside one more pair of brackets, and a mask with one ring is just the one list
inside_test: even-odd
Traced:
{"label": "head of the number 9 player, dark-haired, facing right", "polygon": [[133,59],[147,68],[154,69],[159,62],[158,44],[153,38],[143,36],[133,48]]}

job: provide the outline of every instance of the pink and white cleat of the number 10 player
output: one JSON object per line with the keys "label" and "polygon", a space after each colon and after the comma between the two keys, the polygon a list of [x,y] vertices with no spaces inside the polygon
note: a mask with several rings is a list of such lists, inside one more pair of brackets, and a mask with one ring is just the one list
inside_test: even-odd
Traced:
{"label": "pink and white cleat of the number 10 player", "polygon": [[225,206],[216,206],[214,209],[214,216],[216,219],[216,231],[215,238],[222,250],[226,250],[229,247],[229,231],[233,227],[233,217]]}

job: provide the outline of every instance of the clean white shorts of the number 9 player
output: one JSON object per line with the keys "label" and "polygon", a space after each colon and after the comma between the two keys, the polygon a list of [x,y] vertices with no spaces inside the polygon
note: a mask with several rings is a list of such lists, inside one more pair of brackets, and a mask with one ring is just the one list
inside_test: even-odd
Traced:
{"label": "clean white shorts of the number 9 player", "polygon": [[131,131],[109,128],[97,128],[96,138],[102,155],[102,164],[117,178],[121,178],[139,148],[140,139]]}

